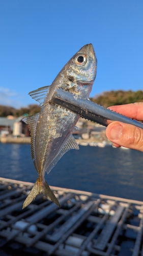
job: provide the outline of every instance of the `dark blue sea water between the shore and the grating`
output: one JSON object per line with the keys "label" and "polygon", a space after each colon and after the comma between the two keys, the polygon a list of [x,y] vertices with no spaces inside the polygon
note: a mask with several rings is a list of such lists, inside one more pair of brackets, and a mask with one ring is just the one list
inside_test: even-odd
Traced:
{"label": "dark blue sea water between the shore and the grating", "polygon": [[[112,146],[70,150],[45,178],[49,185],[143,201],[143,153]],[[0,143],[0,177],[35,182],[30,144]]]}

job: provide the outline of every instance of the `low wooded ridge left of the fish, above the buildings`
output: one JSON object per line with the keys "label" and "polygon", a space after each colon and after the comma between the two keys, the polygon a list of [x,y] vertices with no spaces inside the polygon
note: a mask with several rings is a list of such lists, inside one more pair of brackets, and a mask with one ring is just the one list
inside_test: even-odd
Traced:
{"label": "low wooded ridge left of the fish, above the buildings", "polygon": [[14,109],[11,106],[0,105],[0,117],[7,117],[12,115],[15,117],[27,114],[29,116],[40,112],[40,106],[37,104],[28,105],[26,108]]}

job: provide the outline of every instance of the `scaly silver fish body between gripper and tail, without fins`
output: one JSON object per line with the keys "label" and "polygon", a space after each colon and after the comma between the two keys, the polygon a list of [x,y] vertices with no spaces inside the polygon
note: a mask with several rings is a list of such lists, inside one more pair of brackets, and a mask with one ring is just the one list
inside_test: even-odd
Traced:
{"label": "scaly silver fish body between gripper and tail, without fins", "polygon": [[47,104],[41,110],[35,142],[40,176],[44,177],[47,167],[64,147],[78,119],[79,115],[56,105]]}

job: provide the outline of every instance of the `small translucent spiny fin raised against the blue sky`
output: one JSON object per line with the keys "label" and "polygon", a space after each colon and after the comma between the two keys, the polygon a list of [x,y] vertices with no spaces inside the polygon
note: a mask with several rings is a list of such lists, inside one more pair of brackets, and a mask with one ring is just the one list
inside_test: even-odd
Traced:
{"label": "small translucent spiny fin raised against the blue sky", "polygon": [[40,103],[40,106],[43,105],[43,102],[45,100],[45,97],[49,91],[50,86],[44,86],[41,87],[35,91],[32,91],[30,93],[28,93],[33,99],[35,99],[36,101],[38,101]]}

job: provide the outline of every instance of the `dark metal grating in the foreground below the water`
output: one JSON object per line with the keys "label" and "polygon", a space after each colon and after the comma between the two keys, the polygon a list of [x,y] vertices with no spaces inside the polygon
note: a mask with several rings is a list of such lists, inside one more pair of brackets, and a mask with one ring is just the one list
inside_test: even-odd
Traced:
{"label": "dark metal grating in the foreground below the water", "polygon": [[33,183],[0,178],[0,255],[143,256],[143,202],[53,187],[58,207]]}

